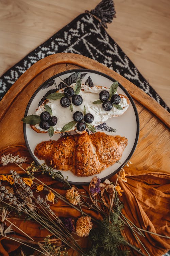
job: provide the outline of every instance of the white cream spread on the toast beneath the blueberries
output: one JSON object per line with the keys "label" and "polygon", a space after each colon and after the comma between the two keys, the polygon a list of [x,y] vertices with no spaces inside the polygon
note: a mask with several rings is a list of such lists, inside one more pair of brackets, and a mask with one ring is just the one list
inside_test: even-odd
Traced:
{"label": "white cream spread on the toast beneath the blueberries", "polygon": [[[70,87],[74,88],[75,83],[70,85]],[[81,91],[79,95],[83,98],[83,103],[80,106],[73,106],[73,113],[76,111],[84,112],[84,105],[86,108],[86,113],[90,113],[94,116],[94,121],[91,123],[93,126],[97,126],[99,124],[102,124],[106,122],[106,120],[110,117],[114,117],[115,115],[121,115],[128,109],[128,102],[126,98],[121,98],[121,101],[119,105],[123,108],[122,110],[118,110],[117,108],[113,107],[110,111],[105,111],[102,108],[102,104],[93,104],[92,102],[99,100],[99,93],[101,90],[108,90],[109,88],[105,87],[88,87],[87,85],[82,85]],[[63,94],[64,96],[64,94]],[[70,98],[71,100],[71,98]],[[52,109],[53,116],[56,116],[58,118],[57,124],[53,126],[54,131],[61,131],[64,125],[68,124],[69,122],[73,121],[73,113],[71,113],[70,107],[63,108],[60,104],[60,99],[58,100],[49,100],[49,102],[46,103],[50,106]],[[38,110],[36,111],[36,115],[40,115],[43,111],[45,111],[45,108],[43,105],[41,105]],[[35,127],[41,131],[43,129],[40,128],[39,124],[36,124]],[[71,129],[74,130],[76,128],[76,125]]]}

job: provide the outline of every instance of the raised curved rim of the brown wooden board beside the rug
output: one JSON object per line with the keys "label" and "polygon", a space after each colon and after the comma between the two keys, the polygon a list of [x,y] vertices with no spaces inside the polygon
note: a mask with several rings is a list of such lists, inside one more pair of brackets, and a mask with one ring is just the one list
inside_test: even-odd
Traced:
{"label": "raised curved rim of the brown wooden board beside the rug", "polygon": [[18,94],[37,75],[39,75],[49,67],[64,63],[77,65],[85,69],[97,70],[118,80],[120,84],[122,84],[124,88],[129,92],[133,99],[145,106],[146,109],[152,112],[168,128],[170,128],[170,113],[168,113],[168,111],[166,111],[159,103],[157,103],[153,98],[147,95],[139,87],[131,83],[129,80],[125,79],[120,74],[116,73],[114,70],[109,69],[103,64],[97,62],[96,60],[92,60],[88,57],[73,53],[57,53],[49,55],[46,58],[37,61],[25,73],[23,73],[0,101],[0,122],[5,115],[5,112],[10,108],[11,104],[16,99]]}

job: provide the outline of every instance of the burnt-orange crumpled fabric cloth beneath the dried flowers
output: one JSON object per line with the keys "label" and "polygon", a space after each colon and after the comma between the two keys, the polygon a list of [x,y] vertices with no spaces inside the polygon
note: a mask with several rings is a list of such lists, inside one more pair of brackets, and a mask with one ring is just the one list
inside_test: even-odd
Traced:
{"label": "burnt-orange crumpled fabric cloth beneath the dried flowers", "polygon": [[[3,154],[19,154],[20,156],[27,156],[28,161],[23,165],[24,168],[28,166],[32,159],[24,146],[15,146],[11,148],[6,148],[0,152],[0,157]],[[0,174],[8,174],[10,169],[14,169],[20,174],[23,171],[17,167],[15,164],[10,164],[8,166],[2,166],[0,164]],[[121,186],[123,196],[119,199],[123,202],[124,208],[122,213],[130,219],[137,227],[142,228],[147,231],[156,232],[158,234],[170,236],[170,175],[167,173],[149,173],[147,170],[135,170],[133,166],[130,165],[128,168],[124,168],[125,172],[128,173],[128,182],[118,181]],[[63,189],[63,184],[58,181],[54,181],[51,177],[46,175],[37,174],[37,177],[41,179],[44,183],[54,188],[57,192],[65,195],[66,190]],[[117,179],[117,174],[114,175],[110,180],[115,182]],[[81,191],[88,191],[87,186],[83,186]],[[45,191],[41,192],[45,193]],[[47,193],[45,193],[47,194]],[[37,193],[38,195],[38,193]],[[42,194],[41,194],[42,195]],[[77,210],[69,207],[66,203],[58,200],[57,203],[51,203],[51,209],[59,217],[73,217],[78,218],[81,213]],[[84,212],[88,213],[94,218],[100,219],[99,213],[83,209]],[[35,240],[43,239],[48,232],[44,229],[39,230],[38,224],[31,221],[23,222],[19,218],[12,218],[11,222],[15,222],[15,225],[19,226],[22,230],[26,231]],[[15,236],[24,238],[23,234],[16,230]],[[124,236],[126,240],[140,248],[141,251],[147,255],[145,249],[139,243],[132,231],[125,227]],[[145,232],[145,237],[139,236],[142,243],[147,248],[147,251],[151,256],[160,256],[166,253],[170,248],[170,240],[167,238],[162,238],[155,236],[153,234]],[[24,238],[26,239],[26,238]],[[87,239],[81,239],[82,247],[87,246]],[[8,253],[14,251],[19,246],[19,243],[11,242],[10,240],[1,239],[0,240],[0,255],[8,256]],[[138,256],[139,254],[131,250],[131,255]],[[76,252],[69,251],[69,255],[76,255]]]}

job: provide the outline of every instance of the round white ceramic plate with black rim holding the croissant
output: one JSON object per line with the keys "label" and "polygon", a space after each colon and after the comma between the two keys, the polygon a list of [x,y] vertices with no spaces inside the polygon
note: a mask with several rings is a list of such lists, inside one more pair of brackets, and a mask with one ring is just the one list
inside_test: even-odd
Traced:
{"label": "round white ceramic plate with black rim holding the croissant", "polygon": [[[112,77],[109,77],[106,74],[103,74],[101,72],[94,71],[94,70],[87,70],[87,69],[69,70],[69,71],[62,72],[60,74],[56,74],[52,76],[50,79],[48,79],[47,81],[45,81],[35,91],[35,93],[33,94],[33,96],[29,101],[25,116],[35,114],[35,110],[38,107],[38,103],[46,95],[46,93],[49,90],[53,90],[51,92],[54,92],[54,90],[56,90],[56,87],[58,88],[58,85],[61,83],[61,79],[64,80],[67,77],[69,77],[71,74],[78,71],[81,72],[82,74],[87,73],[82,79],[82,83],[84,84],[89,76],[91,77],[94,85],[105,86],[108,88],[115,81]],[[101,126],[101,128],[103,127],[103,129],[100,131],[103,131],[109,135],[114,135],[114,136],[120,135],[122,137],[126,137],[128,139],[128,145],[123,151],[122,158],[120,159],[119,163],[115,163],[113,166],[110,166],[107,169],[103,170],[101,173],[97,174],[97,176],[102,180],[109,178],[113,174],[117,173],[121,169],[121,167],[124,165],[124,163],[127,160],[130,160],[130,157],[132,156],[135,150],[138,137],[139,137],[139,118],[138,118],[136,106],[131,96],[129,95],[129,93],[125,90],[125,88],[121,84],[119,84],[117,93],[126,95],[129,98],[130,100],[129,108],[123,115],[119,117],[109,118],[106,121],[106,127]],[[116,132],[108,131],[107,127],[112,127],[113,129],[116,130]],[[42,141],[50,140],[48,133],[37,133],[30,128],[30,125],[26,125],[26,124],[23,125],[23,129],[24,129],[24,138],[32,158],[37,164],[42,164],[44,161],[39,160],[34,155],[34,149],[38,143]],[[58,138],[60,138],[60,136],[61,136],[60,134],[54,134],[52,137],[52,140],[57,140]],[[93,176],[77,177],[73,175],[71,171],[61,171],[61,172],[65,178],[68,176],[68,181],[72,184],[88,184],[93,177]]]}

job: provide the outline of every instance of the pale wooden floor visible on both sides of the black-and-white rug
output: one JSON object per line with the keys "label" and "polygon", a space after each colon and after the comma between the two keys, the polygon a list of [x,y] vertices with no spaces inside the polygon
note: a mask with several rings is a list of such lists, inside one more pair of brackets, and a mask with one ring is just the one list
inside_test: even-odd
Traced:
{"label": "pale wooden floor visible on both sides of the black-and-white rug", "polygon": [[[0,75],[100,0],[0,0]],[[170,1],[114,0],[108,33],[170,106]]]}

